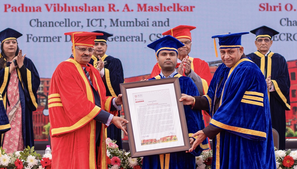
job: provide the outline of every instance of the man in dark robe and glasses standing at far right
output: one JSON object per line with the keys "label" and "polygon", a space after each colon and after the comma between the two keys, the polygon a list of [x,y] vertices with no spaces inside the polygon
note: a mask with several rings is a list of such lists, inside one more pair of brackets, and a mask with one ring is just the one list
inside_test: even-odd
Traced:
{"label": "man in dark robe and glasses standing at far right", "polygon": [[272,128],[279,133],[279,149],[285,150],[286,144],[286,113],[290,110],[290,77],[286,59],[270,51],[271,38],[279,34],[276,30],[261,26],[251,33],[256,35],[257,51],[248,54],[255,64],[260,67],[267,83],[267,93],[270,103]]}

